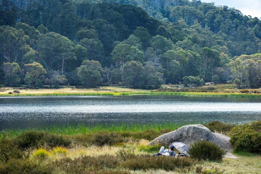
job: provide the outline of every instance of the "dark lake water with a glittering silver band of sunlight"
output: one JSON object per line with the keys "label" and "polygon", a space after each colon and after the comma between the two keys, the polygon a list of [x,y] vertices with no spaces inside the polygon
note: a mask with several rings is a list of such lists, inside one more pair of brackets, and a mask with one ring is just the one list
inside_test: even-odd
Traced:
{"label": "dark lake water with a glittering silver band of sunlight", "polygon": [[261,119],[260,98],[187,96],[0,97],[0,130],[50,124]]}

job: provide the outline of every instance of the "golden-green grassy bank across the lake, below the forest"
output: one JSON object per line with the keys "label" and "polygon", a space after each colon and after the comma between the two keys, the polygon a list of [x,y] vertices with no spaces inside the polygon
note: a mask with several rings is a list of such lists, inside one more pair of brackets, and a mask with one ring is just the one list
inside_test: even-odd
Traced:
{"label": "golden-green grassy bank across the lake, below the forest", "polygon": [[[228,89],[229,88],[229,89]],[[232,89],[230,89],[232,88]],[[15,91],[16,90],[16,91]],[[17,90],[19,93],[17,93]],[[15,92],[14,92],[15,91]],[[195,97],[261,97],[260,90],[248,90],[240,93],[233,85],[220,84],[215,87],[204,86],[197,88],[177,88],[173,85],[164,85],[159,90],[130,89],[123,87],[75,88],[64,87],[60,89],[22,89],[0,88],[0,96],[113,96],[113,95],[184,95]]]}

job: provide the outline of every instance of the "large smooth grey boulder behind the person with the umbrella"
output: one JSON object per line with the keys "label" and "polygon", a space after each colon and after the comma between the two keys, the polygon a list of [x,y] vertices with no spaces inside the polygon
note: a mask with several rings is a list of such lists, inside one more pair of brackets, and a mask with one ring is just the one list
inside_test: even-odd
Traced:
{"label": "large smooth grey boulder behind the person with the umbrella", "polygon": [[212,133],[209,128],[201,124],[191,124],[163,134],[149,142],[148,145],[170,145],[173,142],[183,142],[189,146],[194,141],[206,140],[216,143],[222,149],[231,152],[233,149],[229,139],[228,136]]}

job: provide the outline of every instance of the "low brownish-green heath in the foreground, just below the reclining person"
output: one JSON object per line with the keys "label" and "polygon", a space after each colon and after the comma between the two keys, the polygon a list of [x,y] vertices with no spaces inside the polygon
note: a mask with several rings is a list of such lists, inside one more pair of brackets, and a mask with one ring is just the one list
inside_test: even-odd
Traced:
{"label": "low brownish-green heath in the foreground, just below the reclining person", "polygon": [[[55,164],[66,173],[128,173],[122,168],[163,169],[167,171],[183,171],[192,169],[197,160],[191,158],[171,158],[165,156],[135,155],[133,152],[118,152],[117,155],[81,156],[75,159],[63,158]],[[114,171],[111,169],[120,169]],[[108,171],[106,171],[108,170]],[[104,172],[102,172],[104,171]]]}

